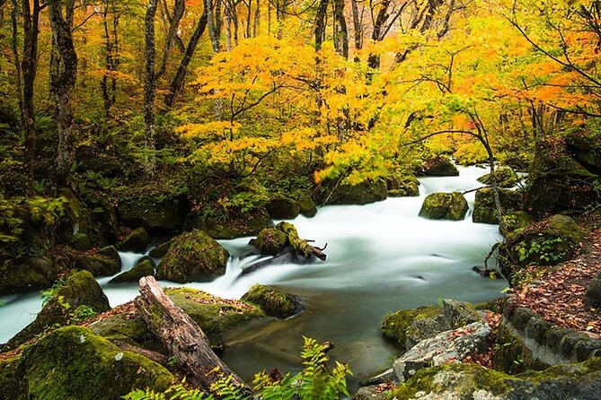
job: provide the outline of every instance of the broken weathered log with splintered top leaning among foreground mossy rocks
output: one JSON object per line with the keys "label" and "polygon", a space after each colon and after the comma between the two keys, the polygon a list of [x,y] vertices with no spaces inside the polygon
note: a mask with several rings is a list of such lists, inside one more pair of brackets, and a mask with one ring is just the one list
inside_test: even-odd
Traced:
{"label": "broken weathered log with splintered top leaning among foreground mossy rocks", "polygon": [[148,328],[175,357],[188,382],[208,390],[222,375],[231,376],[234,385],[252,393],[241,378],[211,350],[207,335],[188,314],[164,293],[155,278],[140,279],[136,307]]}

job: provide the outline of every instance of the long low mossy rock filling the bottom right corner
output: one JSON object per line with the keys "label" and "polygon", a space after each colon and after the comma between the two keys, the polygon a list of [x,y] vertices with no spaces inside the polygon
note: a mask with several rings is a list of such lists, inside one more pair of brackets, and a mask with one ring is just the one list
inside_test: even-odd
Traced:
{"label": "long low mossy rock filling the bottom right corner", "polygon": [[388,398],[597,400],[600,390],[601,358],[597,357],[515,377],[478,364],[446,364],[418,371]]}

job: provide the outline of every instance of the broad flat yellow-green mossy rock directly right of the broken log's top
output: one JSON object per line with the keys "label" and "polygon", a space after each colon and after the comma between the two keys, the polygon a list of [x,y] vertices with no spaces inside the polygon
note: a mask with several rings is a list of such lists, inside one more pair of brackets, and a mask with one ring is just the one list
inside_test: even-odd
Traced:
{"label": "broad flat yellow-green mossy rock directly right of the broken log's top", "polygon": [[211,342],[223,340],[223,336],[234,327],[265,316],[256,306],[239,300],[221,299],[205,291],[171,288],[165,289],[165,293],[199,324]]}

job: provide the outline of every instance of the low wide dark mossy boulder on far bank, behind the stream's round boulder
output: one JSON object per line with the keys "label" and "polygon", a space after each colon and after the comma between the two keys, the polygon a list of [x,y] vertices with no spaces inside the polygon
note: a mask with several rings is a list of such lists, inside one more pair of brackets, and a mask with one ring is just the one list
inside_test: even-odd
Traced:
{"label": "low wide dark mossy boulder on far bank, behind the stream's round boulder", "polygon": [[205,231],[213,239],[234,239],[257,235],[265,228],[273,228],[270,214],[265,207],[248,212],[232,211],[227,215],[213,215],[203,212],[190,213],[185,228]]}

